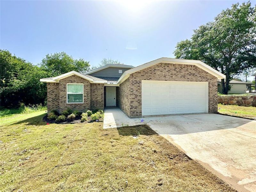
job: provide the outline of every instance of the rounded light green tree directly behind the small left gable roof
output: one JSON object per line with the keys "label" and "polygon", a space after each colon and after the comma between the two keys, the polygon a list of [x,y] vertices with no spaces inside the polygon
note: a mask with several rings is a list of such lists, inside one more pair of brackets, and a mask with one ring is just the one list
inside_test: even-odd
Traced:
{"label": "rounded light green tree directly behind the small left gable roof", "polygon": [[58,76],[69,71],[84,73],[90,69],[89,61],[84,59],[73,59],[65,52],[47,54],[41,62],[41,67],[48,72],[50,76]]}

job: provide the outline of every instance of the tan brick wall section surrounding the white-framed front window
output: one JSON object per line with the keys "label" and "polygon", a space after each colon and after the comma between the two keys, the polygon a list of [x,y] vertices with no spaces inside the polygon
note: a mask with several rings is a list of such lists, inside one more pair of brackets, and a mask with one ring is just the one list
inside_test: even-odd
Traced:
{"label": "tan brick wall section surrounding the white-framed front window", "polygon": [[[64,79],[60,79],[60,113],[67,108],[72,110],[78,110],[79,112],[84,112],[90,109],[91,105],[91,84],[90,81],[72,75]],[[83,83],[84,84],[84,103],[67,103],[67,83]]]}

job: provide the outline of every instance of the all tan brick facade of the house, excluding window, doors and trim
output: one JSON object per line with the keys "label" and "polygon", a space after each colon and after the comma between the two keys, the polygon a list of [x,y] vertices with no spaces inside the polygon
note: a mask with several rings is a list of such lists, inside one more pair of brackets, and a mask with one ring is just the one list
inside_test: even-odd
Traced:
{"label": "all tan brick facade of the house, excluding window, doors and trim", "polygon": [[[195,65],[159,63],[131,74],[116,87],[117,106],[130,117],[141,116],[141,80],[208,82],[208,111],[217,112],[217,77]],[[67,103],[67,83],[84,84],[84,103]],[[104,84],[91,84],[76,75],[60,79],[59,83],[47,83],[48,112],[56,109],[61,113],[67,108],[80,112],[103,109],[104,89]]]}

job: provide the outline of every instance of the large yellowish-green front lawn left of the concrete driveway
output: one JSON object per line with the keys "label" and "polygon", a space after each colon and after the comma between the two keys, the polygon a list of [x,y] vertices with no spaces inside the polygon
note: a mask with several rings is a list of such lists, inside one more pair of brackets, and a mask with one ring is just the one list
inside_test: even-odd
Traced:
{"label": "large yellowish-green front lawn left of the concrete driveway", "polygon": [[0,191],[234,191],[145,125],[102,130],[43,116],[1,118]]}

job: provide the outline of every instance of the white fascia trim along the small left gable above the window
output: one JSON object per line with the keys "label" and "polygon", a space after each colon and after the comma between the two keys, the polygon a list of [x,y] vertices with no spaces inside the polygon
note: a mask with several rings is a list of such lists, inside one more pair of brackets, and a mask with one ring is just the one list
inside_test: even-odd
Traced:
{"label": "white fascia trim along the small left gable above the window", "polygon": [[64,79],[66,77],[69,77],[69,76],[72,76],[72,75],[77,75],[77,76],[80,76],[88,81],[90,81],[90,83],[107,83],[108,81],[98,81],[98,80],[94,80],[88,76],[85,76],[81,73],[78,73],[76,71],[70,71],[68,73],[64,73],[62,75],[59,75],[59,76],[56,76],[56,77],[53,77],[52,79],[40,79],[41,82],[48,82],[48,83],[58,83],[60,79]]}

